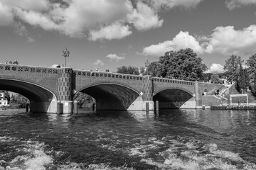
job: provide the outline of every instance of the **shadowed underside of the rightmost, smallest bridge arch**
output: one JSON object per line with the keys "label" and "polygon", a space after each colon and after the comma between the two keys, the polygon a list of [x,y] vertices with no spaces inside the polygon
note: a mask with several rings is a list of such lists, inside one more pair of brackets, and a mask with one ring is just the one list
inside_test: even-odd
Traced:
{"label": "shadowed underside of the rightmost, smallest bridge arch", "polygon": [[153,97],[153,100],[159,101],[159,109],[196,107],[193,96],[181,89],[160,91]]}

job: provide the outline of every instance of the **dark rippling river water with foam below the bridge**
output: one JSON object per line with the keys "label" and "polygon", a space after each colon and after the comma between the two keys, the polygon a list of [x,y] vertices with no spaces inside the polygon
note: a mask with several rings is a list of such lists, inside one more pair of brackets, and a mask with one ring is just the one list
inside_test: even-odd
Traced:
{"label": "dark rippling river water with foam below the bridge", "polygon": [[256,169],[256,111],[0,113],[0,169]]}

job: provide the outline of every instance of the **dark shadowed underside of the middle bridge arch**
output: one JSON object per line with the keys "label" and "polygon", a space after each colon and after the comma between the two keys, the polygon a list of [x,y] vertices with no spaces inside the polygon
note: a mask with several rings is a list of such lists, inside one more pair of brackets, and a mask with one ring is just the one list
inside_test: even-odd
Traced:
{"label": "dark shadowed underside of the middle bridge arch", "polygon": [[142,97],[134,90],[117,84],[100,84],[80,91],[95,98],[97,110],[126,111]]}

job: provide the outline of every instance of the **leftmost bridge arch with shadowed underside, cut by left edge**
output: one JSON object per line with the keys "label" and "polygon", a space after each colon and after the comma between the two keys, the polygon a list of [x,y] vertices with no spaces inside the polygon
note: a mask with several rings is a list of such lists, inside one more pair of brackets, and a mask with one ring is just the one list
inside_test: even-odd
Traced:
{"label": "leftmost bridge arch with shadowed underside, cut by left edge", "polygon": [[30,111],[36,113],[56,113],[56,95],[38,84],[17,79],[0,79],[0,89],[25,96],[30,101]]}

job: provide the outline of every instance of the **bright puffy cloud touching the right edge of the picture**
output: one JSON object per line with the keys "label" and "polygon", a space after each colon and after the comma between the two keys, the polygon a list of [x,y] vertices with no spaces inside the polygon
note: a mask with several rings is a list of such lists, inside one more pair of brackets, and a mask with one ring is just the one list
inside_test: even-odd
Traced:
{"label": "bright puffy cloud touching the right edge of the picture", "polygon": [[206,52],[221,55],[248,55],[255,52],[256,25],[242,30],[233,26],[217,27],[210,35]]}

